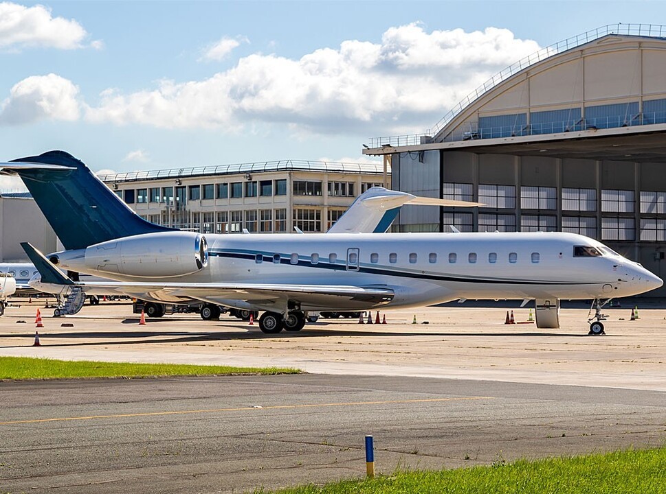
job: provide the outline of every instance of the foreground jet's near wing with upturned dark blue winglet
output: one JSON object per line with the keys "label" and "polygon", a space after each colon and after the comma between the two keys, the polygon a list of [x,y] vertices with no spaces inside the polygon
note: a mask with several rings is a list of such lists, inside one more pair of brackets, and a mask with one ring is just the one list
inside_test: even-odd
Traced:
{"label": "foreground jet's near wing with upturned dark blue winglet", "polygon": [[44,283],[77,285],[96,290],[109,289],[142,298],[148,294],[161,300],[196,299],[219,303],[244,301],[260,307],[280,307],[288,302],[307,307],[348,307],[366,309],[392,301],[394,293],[388,287],[345,285],[307,285],[287,283],[154,283],[151,281],[89,281],[75,283],[28,242],[22,242]]}

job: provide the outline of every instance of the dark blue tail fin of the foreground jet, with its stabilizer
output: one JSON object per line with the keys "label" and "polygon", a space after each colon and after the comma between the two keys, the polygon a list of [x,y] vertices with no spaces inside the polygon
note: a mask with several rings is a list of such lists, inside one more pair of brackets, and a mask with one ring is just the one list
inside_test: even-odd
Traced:
{"label": "dark blue tail fin of the foreground jet, with its stabilizer", "polygon": [[63,151],[0,163],[21,177],[63,246],[86,248],[107,240],[170,231],[137,215],[82,161]]}

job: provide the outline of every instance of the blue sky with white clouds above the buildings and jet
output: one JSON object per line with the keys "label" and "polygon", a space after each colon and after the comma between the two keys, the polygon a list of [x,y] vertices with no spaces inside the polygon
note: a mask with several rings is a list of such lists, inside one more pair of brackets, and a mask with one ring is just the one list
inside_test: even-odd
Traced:
{"label": "blue sky with white clouds above the buildings and jet", "polygon": [[666,24],[666,2],[4,2],[0,159],[362,161],[368,138],[423,132],[522,56],[618,22]]}

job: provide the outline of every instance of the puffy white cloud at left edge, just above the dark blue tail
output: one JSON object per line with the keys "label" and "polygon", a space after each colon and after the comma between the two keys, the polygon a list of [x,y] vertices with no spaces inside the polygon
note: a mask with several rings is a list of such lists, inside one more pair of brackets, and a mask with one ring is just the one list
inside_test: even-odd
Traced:
{"label": "puffy white cloud at left edge, just above the dark blue tail", "polygon": [[30,124],[42,119],[80,117],[78,87],[60,75],[32,75],[12,87],[0,106],[0,124]]}

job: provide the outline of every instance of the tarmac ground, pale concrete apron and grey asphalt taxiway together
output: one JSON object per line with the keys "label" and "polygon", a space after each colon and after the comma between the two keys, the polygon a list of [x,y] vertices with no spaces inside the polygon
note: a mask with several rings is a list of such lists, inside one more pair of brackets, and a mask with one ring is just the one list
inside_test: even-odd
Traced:
{"label": "tarmac ground, pale concrete apron and grey asphalt taxiway together", "polygon": [[[387,325],[320,320],[267,336],[256,324],[197,314],[140,326],[118,303],[52,318],[37,300],[0,318],[0,355],[315,374],[1,382],[3,493],[251,492],[359,478],[365,434],[375,436],[380,473],[656,446],[666,437],[659,307],[640,307],[636,321],[630,308],[606,310],[601,337],[587,336],[588,309],[563,309],[561,329],[540,330],[504,325],[505,308],[465,305],[387,311]],[[38,347],[36,307],[45,325]],[[518,322],[529,318],[529,309],[513,310]]]}

